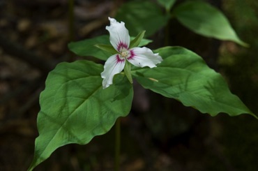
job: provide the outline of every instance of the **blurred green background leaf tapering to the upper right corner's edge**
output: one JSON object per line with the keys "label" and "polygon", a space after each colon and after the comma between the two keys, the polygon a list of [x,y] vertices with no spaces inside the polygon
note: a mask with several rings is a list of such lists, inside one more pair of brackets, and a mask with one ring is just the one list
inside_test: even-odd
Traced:
{"label": "blurred green background leaf tapering to the upper right corner's edge", "polygon": [[196,34],[220,40],[232,40],[239,45],[248,46],[229,24],[227,17],[217,8],[202,1],[187,1],[174,9],[176,19]]}

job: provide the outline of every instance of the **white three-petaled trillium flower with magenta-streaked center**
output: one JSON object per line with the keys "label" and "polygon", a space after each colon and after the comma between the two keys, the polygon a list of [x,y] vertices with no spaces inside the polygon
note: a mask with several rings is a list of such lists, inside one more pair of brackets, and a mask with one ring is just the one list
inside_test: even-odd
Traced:
{"label": "white three-petaled trillium flower with magenta-streaked center", "polygon": [[121,73],[126,65],[126,60],[134,66],[150,68],[160,64],[162,58],[147,47],[132,47],[129,49],[130,36],[128,29],[125,27],[124,22],[116,22],[114,18],[110,18],[110,26],[106,29],[110,34],[110,43],[118,52],[107,59],[104,66],[104,71],[101,73],[103,78],[103,89],[109,87],[113,82],[113,77],[117,73]]}

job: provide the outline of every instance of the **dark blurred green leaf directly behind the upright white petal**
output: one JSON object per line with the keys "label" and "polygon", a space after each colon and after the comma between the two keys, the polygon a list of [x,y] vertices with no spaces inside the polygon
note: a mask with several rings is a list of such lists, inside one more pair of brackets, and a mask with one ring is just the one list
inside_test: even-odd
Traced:
{"label": "dark blurred green leaf directly behind the upright white petal", "polygon": [[126,23],[130,35],[146,30],[145,36],[148,37],[167,24],[169,15],[162,13],[161,8],[151,1],[129,1],[119,8],[116,20]]}

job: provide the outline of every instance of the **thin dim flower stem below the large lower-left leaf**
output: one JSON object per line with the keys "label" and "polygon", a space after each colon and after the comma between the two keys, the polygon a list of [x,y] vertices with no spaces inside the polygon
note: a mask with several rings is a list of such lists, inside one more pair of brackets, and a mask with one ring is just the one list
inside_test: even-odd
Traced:
{"label": "thin dim flower stem below the large lower-left leaf", "polygon": [[115,129],[116,129],[116,137],[115,137],[115,151],[114,151],[114,171],[119,171],[120,166],[120,119],[116,120]]}

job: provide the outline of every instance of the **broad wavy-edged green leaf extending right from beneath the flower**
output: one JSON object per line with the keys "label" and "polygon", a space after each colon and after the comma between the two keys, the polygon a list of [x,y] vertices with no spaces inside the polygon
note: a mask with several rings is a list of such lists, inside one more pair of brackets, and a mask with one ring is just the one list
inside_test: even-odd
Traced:
{"label": "broad wavy-edged green leaf extending right from beneath the flower", "polygon": [[[208,68],[204,60],[183,47],[163,47],[158,50],[164,59],[155,68],[132,70],[132,75],[146,89],[185,106],[215,116],[225,112],[230,116],[252,114],[242,101],[229,91],[219,73]],[[252,114],[255,117],[255,114]]]}

